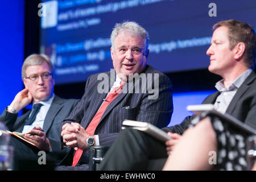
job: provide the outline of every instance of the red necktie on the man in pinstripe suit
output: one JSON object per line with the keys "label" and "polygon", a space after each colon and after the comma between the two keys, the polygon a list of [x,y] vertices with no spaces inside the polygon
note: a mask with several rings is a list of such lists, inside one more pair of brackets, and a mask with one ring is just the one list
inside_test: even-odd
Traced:
{"label": "red necktie on the man in pinstripe suit", "polygon": [[[125,82],[122,81],[120,86],[115,87],[109,93],[108,97],[106,97],[106,99],[104,100],[100,109],[94,115],[94,117],[93,117],[92,121],[90,122],[89,126],[86,128],[86,130],[85,130],[86,133],[88,133],[89,135],[94,135],[94,131],[95,131],[97,125],[98,125],[98,122],[100,122],[103,113],[105,112],[105,110],[108,107],[108,105],[110,104],[110,102],[112,102],[115,99],[115,97],[117,97],[118,94],[121,92],[124,84],[125,84]],[[82,156],[82,152],[84,152],[84,149],[79,148],[78,150],[76,150],[75,155],[73,157],[72,167],[76,166],[76,164],[79,162],[79,159]]]}

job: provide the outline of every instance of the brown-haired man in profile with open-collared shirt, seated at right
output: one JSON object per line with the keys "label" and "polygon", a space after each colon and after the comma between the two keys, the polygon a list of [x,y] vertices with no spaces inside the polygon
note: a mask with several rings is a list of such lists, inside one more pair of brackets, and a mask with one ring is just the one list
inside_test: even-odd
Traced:
{"label": "brown-haired man in profile with open-collared shirt, seated at right", "polygon": [[[203,104],[214,104],[223,113],[233,117],[256,129],[256,75],[252,68],[256,57],[256,35],[254,28],[244,22],[234,19],[218,22],[213,26],[212,44],[207,50],[210,56],[208,70],[220,75],[223,79],[216,83],[218,92],[211,94]],[[131,170],[147,169],[149,159],[155,160],[162,169],[167,155],[191,125],[195,115],[187,117],[180,125],[163,128],[176,140],[166,143],[137,130],[124,130],[105,159],[100,164],[101,170]],[[152,150],[157,148],[157,151]],[[167,151],[167,152],[166,152]]]}

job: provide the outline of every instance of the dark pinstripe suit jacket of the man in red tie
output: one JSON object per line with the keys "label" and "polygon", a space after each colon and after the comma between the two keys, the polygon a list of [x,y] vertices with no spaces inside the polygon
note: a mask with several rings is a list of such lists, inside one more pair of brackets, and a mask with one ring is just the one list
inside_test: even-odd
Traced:
{"label": "dark pinstripe suit jacket of the man in red tie", "polygon": [[[155,100],[149,100],[150,93],[144,93],[141,90],[139,93],[120,93],[105,110],[94,133],[98,135],[100,145],[110,146],[114,142],[125,119],[149,122],[158,127],[167,126],[170,122],[173,111],[170,79],[149,65],[146,65],[143,73],[146,76],[148,73],[152,73],[152,75],[154,73],[159,74],[159,97]],[[92,121],[103,99],[108,94],[97,92],[97,87],[102,81],[97,80],[98,75],[99,73],[88,78],[84,96],[69,117],[63,121],[63,125],[65,123],[78,122],[86,129],[90,121]],[[106,72],[104,79],[109,79],[110,89],[115,80],[115,75],[110,77],[110,72]],[[129,84],[133,84],[131,88],[134,88],[136,81],[127,83],[127,88],[130,88]],[[154,79],[152,79],[152,85],[154,85]],[[129,106],[129,109],[124,108],[127,108],[127,106]],[[69,152],[69,154],[73,153]]]}

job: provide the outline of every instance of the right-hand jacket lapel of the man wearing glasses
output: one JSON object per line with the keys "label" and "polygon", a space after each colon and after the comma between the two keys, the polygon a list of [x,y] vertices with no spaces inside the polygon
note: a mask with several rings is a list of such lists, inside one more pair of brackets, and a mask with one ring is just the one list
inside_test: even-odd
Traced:
{"label": "right-hand jacket lapel of the man wearing glasses", "polygon": [[46,114],[46,118],[44,119],[43,130],[45,133],[49,130],[49,127],[52,126],[53,119],[56,117],[57,113],[63,107],[64,101],[61,100],[60,97],[55,96],[49,110]]}

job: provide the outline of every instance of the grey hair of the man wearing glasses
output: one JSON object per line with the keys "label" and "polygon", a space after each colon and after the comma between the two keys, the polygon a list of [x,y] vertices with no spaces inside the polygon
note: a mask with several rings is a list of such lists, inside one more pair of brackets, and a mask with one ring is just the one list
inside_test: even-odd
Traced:
{"label": "grey hair of the man wearing glasses", "polygon": [[49,66],[49,69],[51,73],[53,72],[53,66],[51,61],[49,60],[47,55],[41,54],[32,54],[28,56],[22,65],[22,78],[26,78],[26,69],[27,67],[33,66],[33,65],[42,65],[43,62],[46,62]]}

